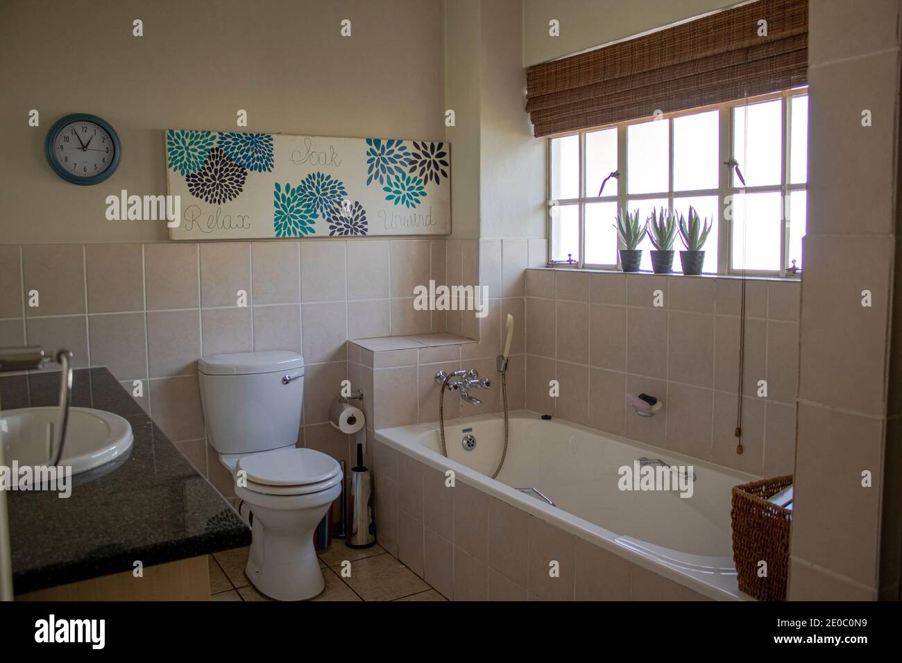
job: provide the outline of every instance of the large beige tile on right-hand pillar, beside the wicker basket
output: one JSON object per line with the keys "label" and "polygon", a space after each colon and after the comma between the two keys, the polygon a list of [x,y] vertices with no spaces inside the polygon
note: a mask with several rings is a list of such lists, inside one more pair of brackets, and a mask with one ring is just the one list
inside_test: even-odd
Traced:
{"label": "large beige tile on right-hand pillar, beside the wicker basket", "polygon": [[883,423],[803,402],[797,411],[792,555],[876,587]]}

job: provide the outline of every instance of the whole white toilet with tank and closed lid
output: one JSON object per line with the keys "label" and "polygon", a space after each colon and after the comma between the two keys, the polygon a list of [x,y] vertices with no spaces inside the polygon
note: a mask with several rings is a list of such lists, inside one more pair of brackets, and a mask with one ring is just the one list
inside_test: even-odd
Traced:
{"label": "whole white toilet with tank and closed lid", "polygon": [[248,578],[280,601],[316,596],[325,581],[313,531],[341,494],[343,476],[334,458],[295,447],[304,358],[285,351],[209,356],[198,361],[198,381],[207,437],[250,510]]}

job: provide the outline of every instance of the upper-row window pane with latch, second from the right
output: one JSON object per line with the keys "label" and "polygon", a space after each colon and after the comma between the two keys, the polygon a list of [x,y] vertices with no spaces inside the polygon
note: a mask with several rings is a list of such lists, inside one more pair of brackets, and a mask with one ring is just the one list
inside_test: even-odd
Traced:
{"label": "upper-row window pane with latch, second from the right", "polygon": [[[733,108],[733,156],[747,187],[779,184],[783,152],[782,99]],[[748,115],[748,122],[746,121]],[[733,175],[733,186],[742,183]]]}

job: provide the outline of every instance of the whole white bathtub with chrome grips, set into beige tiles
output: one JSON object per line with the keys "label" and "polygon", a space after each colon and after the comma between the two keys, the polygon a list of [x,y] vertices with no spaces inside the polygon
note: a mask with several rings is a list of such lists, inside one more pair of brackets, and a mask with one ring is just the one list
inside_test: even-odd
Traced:
{"label": "whole white bathtub with chrome grips, set into beige tiles", "polygon": [[[454,470],[456,480],[698,594],[749,599],[739,592],[732,561],[731,490],[758,477],[591,428],[543,420],[530,411],[512,412],[510,426],[508,455],[497,480],[489,478],[503,442],[503,419],[496,414],[446,422],[447,458],[440,452],[437,422],[383,428],[375,437],[442,473]],[[471,451],[462,445],[465,429],[472,429],[476,438]],[[621,491],[618,470],[641,456],[691,465],[692,496]],[[377,472],[377,493],[378,482]],[[555,506],[516,490],[520,488],[537,489]]]}

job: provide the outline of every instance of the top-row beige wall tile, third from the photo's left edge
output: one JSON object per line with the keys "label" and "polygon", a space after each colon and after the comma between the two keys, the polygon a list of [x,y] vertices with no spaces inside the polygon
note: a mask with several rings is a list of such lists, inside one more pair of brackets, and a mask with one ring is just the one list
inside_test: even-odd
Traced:
{"label": "top-row beige wall tile, third from the photo's left edge", "polygon": [[144,309],[141,244],[85,244],[85,258],[88,312]]}

